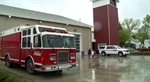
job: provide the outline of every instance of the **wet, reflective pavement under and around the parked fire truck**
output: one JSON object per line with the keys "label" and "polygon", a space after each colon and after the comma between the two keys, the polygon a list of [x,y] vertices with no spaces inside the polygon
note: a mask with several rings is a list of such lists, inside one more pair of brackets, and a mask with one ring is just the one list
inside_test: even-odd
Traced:
{"label": "wet, reflective pavement under and around the parked fire truck", "polygon": [[29,75],[25,68],[1,69],[18,74],[34,82],[150,82],[150,56],[95,57],[78,55],[79,67]]}

